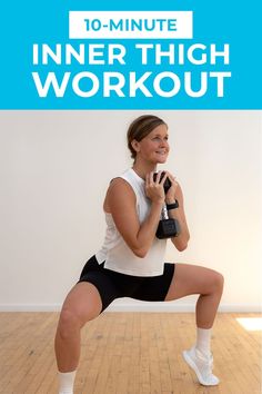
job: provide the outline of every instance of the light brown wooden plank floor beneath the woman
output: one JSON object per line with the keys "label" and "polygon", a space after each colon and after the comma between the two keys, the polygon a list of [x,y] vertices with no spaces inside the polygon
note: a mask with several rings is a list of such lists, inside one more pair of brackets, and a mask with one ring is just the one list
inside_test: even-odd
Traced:
{"label": "light brown wooden plank floor beneath the woman", "polygon": [[[194,315],[105,313],[82,331],[74,393],[80,394],[259,394],[261,332],[219,314],[213,328],[218,387],[196,383],[181,352],[194,342]],[[56,394],[53,336],[57,313],[0,314],[0,393]]]}

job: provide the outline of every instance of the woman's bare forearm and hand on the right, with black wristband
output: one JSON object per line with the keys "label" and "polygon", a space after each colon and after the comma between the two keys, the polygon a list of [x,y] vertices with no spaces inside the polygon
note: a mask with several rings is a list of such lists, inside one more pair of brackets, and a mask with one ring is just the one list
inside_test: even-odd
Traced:
{"label": "woman's bare forearm and hand on the right, with black wristband", "polygon": [[181,189],[181,186],[179,183],[177,183],[175,178],[172,176],[172,174],[168,173],[168,177],[171,180],[171,187],[168,190],[165,195],[165,204],[174,204],[175,199],[179,203],[179,207],[175,209],[170,209],[169,217],[177,219],[180,225],[180,234],[178,237],[171,238],[172,243],[174,244],[175,248],[179,252],[182,252],[187,249],[188,243],[190,239],[190,234],[189,234],[189,228],[185,219],[185,214],[184,214],[184,204],[183,204],[183,193]]}

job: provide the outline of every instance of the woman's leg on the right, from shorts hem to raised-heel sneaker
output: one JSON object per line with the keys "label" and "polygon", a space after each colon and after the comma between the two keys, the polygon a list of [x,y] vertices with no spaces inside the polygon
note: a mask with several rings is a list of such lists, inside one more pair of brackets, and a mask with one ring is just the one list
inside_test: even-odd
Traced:
{"label": "woman's leg on the right, from shorts hem to raised-heel sneaker", "polygon": [[210,352],[211,327],[223,292],[223,276],[215,270],[177,264],[165,301],[178,299],[192,294],[200,294],[196,303],[196,344],[183,352],[187,363],[195,372],[199,382],[206,386],[219,384],[212,374]]}

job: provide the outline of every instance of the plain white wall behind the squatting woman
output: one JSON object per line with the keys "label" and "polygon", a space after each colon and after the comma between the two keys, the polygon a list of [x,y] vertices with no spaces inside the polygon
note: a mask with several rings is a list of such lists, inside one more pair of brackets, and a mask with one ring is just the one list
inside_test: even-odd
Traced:
{"label": "plain white wall behind the squatting woman", "polygon": [[[60,307],[102,243],[109,180],[131,165],[128,124],[151,111],[0,112],[0,309]],[[223,273],[222,311],[261,306],[262,139],[258,111],[152,111],[182,185],[189,248],[168,260]],[[114,309],[191,311],[195,297]]]}

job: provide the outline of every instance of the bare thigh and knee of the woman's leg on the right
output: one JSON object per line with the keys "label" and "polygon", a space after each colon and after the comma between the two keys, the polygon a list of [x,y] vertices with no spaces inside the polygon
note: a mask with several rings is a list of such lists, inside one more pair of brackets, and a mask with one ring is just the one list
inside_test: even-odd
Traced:
{"label": "bare thigh and knee of the woman's leg on the right", "polygon": [[222,286],[223,277],[218,272],[190,264],[175,264],[174,275],[165,301],[192,294],[211,294],[215,286]]}

